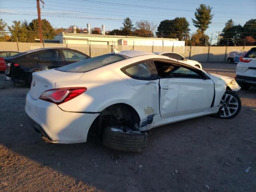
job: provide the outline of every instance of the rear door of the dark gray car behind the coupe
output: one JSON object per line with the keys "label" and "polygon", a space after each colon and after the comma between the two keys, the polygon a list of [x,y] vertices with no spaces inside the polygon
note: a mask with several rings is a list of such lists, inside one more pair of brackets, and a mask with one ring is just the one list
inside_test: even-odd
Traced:
{"label": "rear door of the dark gray car behind the coupe", "polygon": [[66,65],[59,50],[46,50],[38,53],[38,65],[42,70],[53,69]]}

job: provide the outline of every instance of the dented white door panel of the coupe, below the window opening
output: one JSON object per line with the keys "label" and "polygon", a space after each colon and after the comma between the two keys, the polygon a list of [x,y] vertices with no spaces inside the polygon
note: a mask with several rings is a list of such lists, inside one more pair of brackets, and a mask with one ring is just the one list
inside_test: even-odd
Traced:
{"label": "dented white door panel of the coupe, below the window opening", "polygon": [[164,119],[209,110],[214,96],[210,79],[162,78],[160,87],[160,114]]}

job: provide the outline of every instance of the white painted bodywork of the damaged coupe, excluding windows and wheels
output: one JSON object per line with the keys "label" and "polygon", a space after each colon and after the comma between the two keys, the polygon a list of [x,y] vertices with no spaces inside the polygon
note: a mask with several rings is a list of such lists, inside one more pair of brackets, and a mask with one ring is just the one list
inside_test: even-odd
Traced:
{"label": "white painted bodywork of the damaged coupe, excluding windows and wheels", "polygon": [[[120,69],[143,60],[174,62],[166,56],[138,51],[117,53],[130,58],[88,72],[62,72],[56,69],[33,73],[33,86],[26,96],[26,114],[53,143],[86,142],[94,120],[114,104],[134,108],[140,118],[139,130],[216,114],[227,87],[238,91],[235,80],[208,74],[206,78],[157,78],[138,80]],[[178,62],[176,62],[178,63]],[[63,87],[86,87],[83,94],[62,104],[39,99],[44,91]],[[151,119],[151,120],[150,120]]]}

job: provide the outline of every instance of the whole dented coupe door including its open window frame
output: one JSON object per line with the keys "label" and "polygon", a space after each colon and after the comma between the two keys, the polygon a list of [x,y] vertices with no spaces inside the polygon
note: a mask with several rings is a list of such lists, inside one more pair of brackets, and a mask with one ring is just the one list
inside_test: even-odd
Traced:
{"label": "whole dented coupe door including its open window frame", "polygon": [[160,114],[172,118],[209,110],[214,83],[202,71],[164,60],[154,60],[160,76]]}

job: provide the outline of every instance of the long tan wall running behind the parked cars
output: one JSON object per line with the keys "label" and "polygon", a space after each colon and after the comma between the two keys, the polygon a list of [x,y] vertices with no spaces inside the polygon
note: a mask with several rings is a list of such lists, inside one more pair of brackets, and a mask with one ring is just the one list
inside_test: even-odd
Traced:
{"label": "long tan wall running behind the parked cars", "polygon": [[[169,44],[168,44],[169,45]],[[111,53],[112,50],[140,50],[148,52],[178,52],[191,60],[197,60],[198,62],[224,62],[227,59],[227,55],[231,51],[250,50],[254,46],[236,46],[236,47],[224,47],[224,46],[183,46],[182,44],[173,43],[172,46],[138,46],[138,45],[97,45],[97,44],[51,44],[51,43],[16,43],[16,42],[0,42],[0,50],[12,50],[24,52],[36,48],[43,47],[68,47],[80,52],[83,52],[89,56],[98,56],[102,54]]]}

